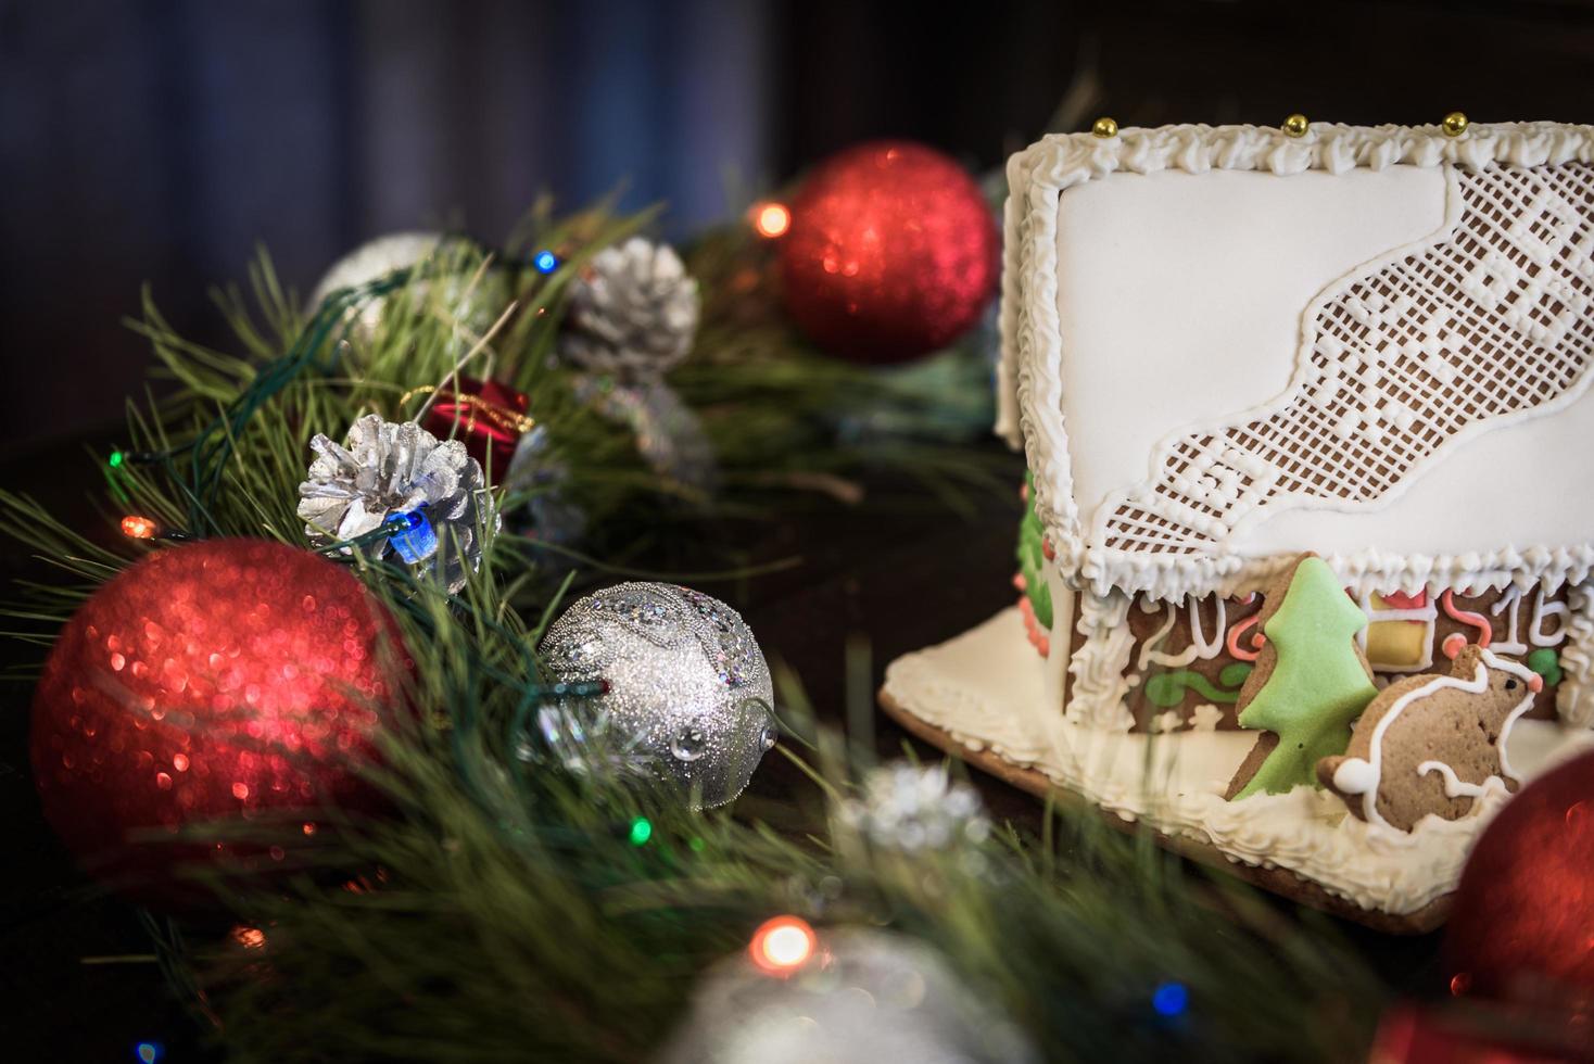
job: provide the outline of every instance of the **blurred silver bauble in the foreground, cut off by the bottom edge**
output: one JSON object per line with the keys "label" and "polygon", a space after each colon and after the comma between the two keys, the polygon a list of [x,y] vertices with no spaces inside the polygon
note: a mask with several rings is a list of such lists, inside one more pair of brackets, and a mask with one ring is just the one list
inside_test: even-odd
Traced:
{"label": "blurred silver bauble in the foreground, cut off by the bottom edge", "polygon": [[660,1064],[1028,1064],[1011,1021],[932,948],[888,932],[821,933],[795,973],[748,957],[711,970]]}

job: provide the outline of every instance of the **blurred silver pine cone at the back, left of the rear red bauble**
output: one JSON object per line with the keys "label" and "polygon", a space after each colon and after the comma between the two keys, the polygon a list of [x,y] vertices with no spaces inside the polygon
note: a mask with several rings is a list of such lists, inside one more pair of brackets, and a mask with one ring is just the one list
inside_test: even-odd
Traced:
{"label": "blurred silver pine cone at the back, left of the rear red bauble", "polygon": [[657,381],[692,350],[697,280],[668,244],[639,236],[593,256],[571,290],[559,354],[623,384]]}

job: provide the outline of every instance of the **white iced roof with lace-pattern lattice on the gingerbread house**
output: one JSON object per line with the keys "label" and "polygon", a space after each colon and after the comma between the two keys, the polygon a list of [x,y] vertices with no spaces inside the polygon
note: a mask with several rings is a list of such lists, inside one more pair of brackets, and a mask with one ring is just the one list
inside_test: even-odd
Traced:
{"label": "white iced roof with lace-pattern lattice on the gingerbread house", "polygon": [[1361,589],[1586,580],[1589,132],[1175,126],[1014,156],[998,430],[1022,422],[1065,572],[1178,597],[1317,550]]}

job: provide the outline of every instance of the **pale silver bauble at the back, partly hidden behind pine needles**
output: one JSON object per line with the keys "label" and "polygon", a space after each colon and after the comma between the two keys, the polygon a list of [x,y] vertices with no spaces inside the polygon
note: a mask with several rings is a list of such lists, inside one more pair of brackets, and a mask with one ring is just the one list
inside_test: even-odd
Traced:
{"label": "pale silver bauble at the back, partly hidden behind pine needles", "polygon": [[[477,279],[475,268],[481,261],[480,252],[469,241],[445,237],[442,233],[394,233],[362,244],[333,263],[332,269],[316,284],[316,290],[304,304],[304,314],[316,314],[333,291],[373,284],[397,269],[410,269],[432,258],[437,260],[438,269],[457,268],[457,272],[451,272],[443,282],[445,304],[465,330],[475,336],[485,334],[508,306],[508,282],[491,269]],[[472,280],[475,280],[473,285]],[[427,299],[432,284],[435,282],[413,280],[411,298],[418,303]],[[391,298],[391,295],[370,296],[357,307],[351,307],[346,315],[349,338],[360,344],[370,342],[381,325]]]}

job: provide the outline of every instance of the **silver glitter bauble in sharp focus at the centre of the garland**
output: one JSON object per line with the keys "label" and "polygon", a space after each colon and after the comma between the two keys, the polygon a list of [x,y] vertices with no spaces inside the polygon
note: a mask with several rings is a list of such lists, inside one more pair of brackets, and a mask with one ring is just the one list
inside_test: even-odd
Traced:
{"label": "silver glitter bauble in sharp focus at the centre of the garland", "polygon": [[558,680],[607,680],[593,707],[703,806],[740,795],[775,745],[770,669],[719,599],[665,583],[606,588],[553,623],[542,655]]}

